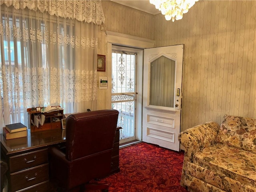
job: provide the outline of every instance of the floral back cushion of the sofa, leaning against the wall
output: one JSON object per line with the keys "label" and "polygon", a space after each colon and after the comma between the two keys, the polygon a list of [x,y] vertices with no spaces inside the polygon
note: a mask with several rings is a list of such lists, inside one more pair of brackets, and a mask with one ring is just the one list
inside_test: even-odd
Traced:
{"label": "floral back cushion of the sofa, leaning against the wall", "polygon": [[216,142],[256,153],[256,119],[224,115]]}

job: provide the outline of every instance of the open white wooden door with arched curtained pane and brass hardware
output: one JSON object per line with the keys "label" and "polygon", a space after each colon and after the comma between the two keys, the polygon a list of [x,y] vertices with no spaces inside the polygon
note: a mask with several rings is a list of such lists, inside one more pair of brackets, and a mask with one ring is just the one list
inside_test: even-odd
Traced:
{"label": "open white wooden door with arched curtained pane and brass hardware", "polygon": [[183,44],[144,50],[142,140],[179,151]]}

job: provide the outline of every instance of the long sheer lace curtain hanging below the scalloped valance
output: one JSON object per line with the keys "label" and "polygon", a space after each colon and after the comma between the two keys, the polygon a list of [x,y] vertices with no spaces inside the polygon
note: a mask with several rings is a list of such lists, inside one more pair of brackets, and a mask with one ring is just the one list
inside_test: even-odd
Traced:
{"label": "long sheer lace curtain hanging below the scalloped valance", "polygon": [[28,125],[26,109],[31,107],[95,110],[98,30],[93,22],[2,4],[0,127]]}

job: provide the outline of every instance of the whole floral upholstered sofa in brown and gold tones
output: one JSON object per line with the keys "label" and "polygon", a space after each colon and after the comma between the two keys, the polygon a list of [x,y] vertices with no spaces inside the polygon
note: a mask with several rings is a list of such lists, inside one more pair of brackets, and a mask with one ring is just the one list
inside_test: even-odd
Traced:
{"label": "whole floral upholstered sofa in brown and gold tones", "polygon": [[190,192],[256,192],[256,119],[225,115],[179,134]]}

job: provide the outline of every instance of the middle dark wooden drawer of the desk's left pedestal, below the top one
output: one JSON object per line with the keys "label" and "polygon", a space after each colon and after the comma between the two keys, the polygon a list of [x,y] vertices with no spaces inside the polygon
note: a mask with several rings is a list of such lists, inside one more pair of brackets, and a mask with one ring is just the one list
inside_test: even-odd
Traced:
{"label": "middle dark wooden drawer of the desk's left pedestal, below the top one", "polygon": [[48,180],[48,163],[10,174],[11,191],[18,191]]}

